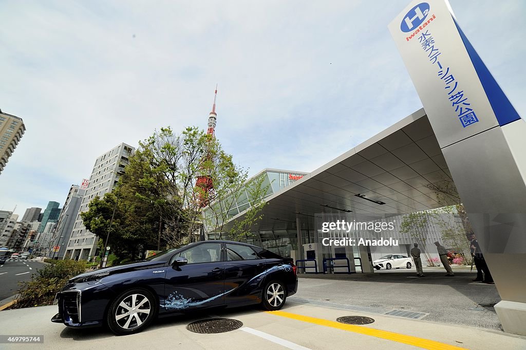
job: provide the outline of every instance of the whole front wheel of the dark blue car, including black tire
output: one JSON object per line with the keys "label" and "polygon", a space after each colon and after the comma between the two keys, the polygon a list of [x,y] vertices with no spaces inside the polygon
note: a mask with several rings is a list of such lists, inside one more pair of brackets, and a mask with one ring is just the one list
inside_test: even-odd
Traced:
{"label": "whole front wheel of the dark blue car, including black tire", "polygon": [[157,314],[157,302],[146,289],[129,289],[115,298],[109,307],[107,324],[117,335],[143,331]]}

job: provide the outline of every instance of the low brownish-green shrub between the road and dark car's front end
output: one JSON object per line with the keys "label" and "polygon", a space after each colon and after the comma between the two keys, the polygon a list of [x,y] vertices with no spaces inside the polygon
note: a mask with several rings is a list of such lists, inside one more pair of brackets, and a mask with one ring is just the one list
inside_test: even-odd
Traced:
{"label": "low brownish-green shrub between the road and dark car's front end", "polygon": [[85,261],[54,260],[31,275],[30,281],[20,283],[20,295],[11,308],[52,305],[67,280],[85,271]]}

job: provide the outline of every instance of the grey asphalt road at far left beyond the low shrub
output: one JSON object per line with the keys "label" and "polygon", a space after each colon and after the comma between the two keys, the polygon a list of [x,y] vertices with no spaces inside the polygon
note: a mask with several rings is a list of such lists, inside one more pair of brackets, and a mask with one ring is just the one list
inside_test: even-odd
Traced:
{"label": "grey asphalt road at far left beyond the low shrub", "polygon": [[33,260],[7,261],[0,265],[0,300],[17,294],[18,282],[29,281],[44,264]]}

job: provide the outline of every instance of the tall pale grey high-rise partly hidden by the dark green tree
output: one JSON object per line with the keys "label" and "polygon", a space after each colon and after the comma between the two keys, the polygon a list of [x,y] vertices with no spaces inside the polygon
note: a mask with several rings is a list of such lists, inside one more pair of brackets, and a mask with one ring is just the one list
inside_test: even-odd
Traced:
{"label": "tall pale grey high-rise partly hidden by the dark green tree", "polygon": [[124,174],[128,158],[134,151],[134,147],[121,143],[96,159],[64,258],[87,260],[97,254],[98,237],[86,229],[80,213],[88,210],[88,204],[93,198],[103,197],[104,194],[113,191],[120,175]]}

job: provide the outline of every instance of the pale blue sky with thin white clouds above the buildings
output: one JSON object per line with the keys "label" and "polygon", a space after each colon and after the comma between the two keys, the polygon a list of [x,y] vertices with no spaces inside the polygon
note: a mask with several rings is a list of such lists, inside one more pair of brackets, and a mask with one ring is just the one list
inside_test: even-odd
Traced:
{"label": "pale blue sky with thin white clouds above the buildings", "polygon": [[[451,0],[511,103],[526,112],[526,2]],[[95,159],[154,130],[207,127],[254,175],[311,172],[422,107],[385,1],[0,2],[0,109],[26,132],[0,210],[61,206]]]}

